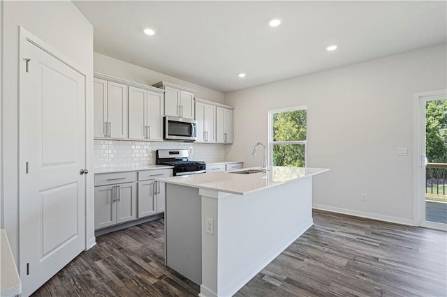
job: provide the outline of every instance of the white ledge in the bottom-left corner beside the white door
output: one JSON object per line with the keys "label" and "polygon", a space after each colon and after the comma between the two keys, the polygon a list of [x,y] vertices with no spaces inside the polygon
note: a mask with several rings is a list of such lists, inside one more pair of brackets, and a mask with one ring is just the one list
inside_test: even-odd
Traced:
{"label": "white ledge in the bottom-left corner beside the white door", "polygon": [[0,296],[19,295],[22,293],[22,283],[5,229],[0,229],[0,259]]}

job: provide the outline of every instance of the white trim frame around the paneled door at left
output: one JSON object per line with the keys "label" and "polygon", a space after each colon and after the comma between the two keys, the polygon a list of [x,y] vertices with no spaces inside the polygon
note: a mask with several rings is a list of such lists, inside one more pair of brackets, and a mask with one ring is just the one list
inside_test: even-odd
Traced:
{"label": "white trim frame around the paneled door at left", "polygon": [[[34,36],[33,33],[27,31],[27,29],[24,29],[22,26],[19,26],[19,68],[22,69],[26,67],[25,61],[22,60],[22,48],[24,47],[25,43],[31,42],[36,47],[40,48],[41,50],[47,52],[51,56],[53,56],[55,59],[58,59],[61,61],[61,63],[64,63],[66,66],[72,68],[73,70],[77,71],[84,77],[84,84],[85,84],[85,168],[90,169],[91,174],[87,174],[85,176],[85,238],[84,238],[84,246],[85,250],[89,250],[94,245],[96,245],[96,238],[94,236],[94,137],[93,137],[93,69],[85,69],[85,67],[82,67],[79,65],[79,63],[76,63],[73,61],[73,59],[68,58],[64,54],[61,54],[59,50],[56,50],[51,45],[45,43],[45,41],[41,40],[40,38]],[[22,72],[18,71],[19,73],[19,90],[18,90],[18,104],[20,105],[20,88],[22,86]],[[20,116],[20,106],[18,109],[19,116]],[[20,119],[20,118],[19,118]],[[17,131],[20,133],[20,128]],[[20,135],[19,135],[20,139]],[[19,144],[20,148],[20,144]],[[20,153],[18,155],[17,160],[17,166],[20,168],[22,165],[22,162],[20,161]],[[18,178],[19,176],[17,176]],[[20,195],[20,178],[18,178],[18,190]],[[19,199],[20,203],[20,199]],[[20,205],[18,206],[17,211],[19,211],[20,216]],[[20,224],[20,220],[18,222]],[[18,226],[18,230],[20,232],[20,225]],[[20,238],[20,236],[19,236]],[[18,252],[19,252],[19,262],[18,267],[20,267],[20,239],[18,243]]]}

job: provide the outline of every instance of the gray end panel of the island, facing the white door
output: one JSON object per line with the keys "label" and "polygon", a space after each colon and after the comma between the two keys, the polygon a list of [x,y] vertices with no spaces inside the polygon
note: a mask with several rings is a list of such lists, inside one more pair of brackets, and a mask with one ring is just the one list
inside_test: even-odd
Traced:
{"label": "gray end panel of the island, facing the white door", "polygon": [[197,188],[166,183],[166,265],[202,283],[201,198]]}

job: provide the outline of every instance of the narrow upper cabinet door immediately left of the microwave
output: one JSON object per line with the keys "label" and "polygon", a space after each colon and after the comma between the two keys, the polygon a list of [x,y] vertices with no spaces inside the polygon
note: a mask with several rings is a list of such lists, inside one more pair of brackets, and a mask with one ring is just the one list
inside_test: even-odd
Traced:
{"label": "narrow upper cabinet door immediately left of the microwave", "polygon": [[163,94],[147,91],[147,137],[163,140]]}

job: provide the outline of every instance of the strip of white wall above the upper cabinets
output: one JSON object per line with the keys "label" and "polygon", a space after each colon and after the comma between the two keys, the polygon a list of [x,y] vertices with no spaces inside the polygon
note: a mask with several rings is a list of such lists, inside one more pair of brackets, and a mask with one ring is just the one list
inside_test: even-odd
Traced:
{"label": "strip of white wall above the upper cabinets", "polygon": [[172,82],[173,84],[179,84],[180,86],[186,86],[188,88],[196,90],[196,97],[213,102],[223,103],[225,96],[223,93],[214,91],[212,89],[199,86],[198,84],[191,84],[184,80],[177,79],[175,77],[164,75],[163,73],[157,73],[147,68],[133,65],[121,60],[105,56],[103,54],[94,53],[94,71],[96,73],[103,73],[117,78],[127,79],[131,82],[139,82],[140,84],[155,84],[164,80],[166,82]]}

